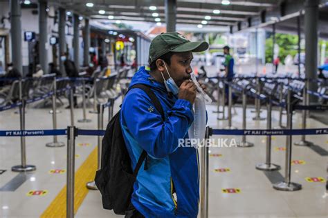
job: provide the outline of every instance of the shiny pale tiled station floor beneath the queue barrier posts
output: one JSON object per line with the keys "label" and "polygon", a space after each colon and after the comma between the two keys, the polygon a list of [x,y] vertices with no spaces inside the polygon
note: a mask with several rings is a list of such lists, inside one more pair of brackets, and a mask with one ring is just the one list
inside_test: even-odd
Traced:
{"label": "shiny pale tiled station floor beneath the queue barrier posts", "polygon": [[[118,111],[120,99],[114,112]],[[61,107],[57,114],[57,128],[70,124],[69,110]],[[78,128],[96,129],[97,115],[89,113],[91,123],[78,123],[82,109],[75,110]],[[208,106],[208,125],[224,128],[228,121],[218,121],[215,105]],[[242,127],[242,109],[237,109],[233,125]],[[52,129],[52,115],[48,109],[28,108],[26,129]],[[221,114],[220,114],[221,116]],[[253,121],[254,113],[247,112],[247,128],[266,128],[266,120]],[[266,117],[266,111],[262,112]],[[104,123],[107,123],[107,110]],[[273,126],[277,126],[277,111],[273,112]],[[300,128],[300,114],[293,116],[293,126]],[[286,122],[286,116],[283,117]],[[314,119],[308,119],[308,128],[327,128]],[[104,125],[105,126],[105,125]],[[0,113],[0,130],[19,129],[19,115],[15,110]],[[215,136],[237,142],[241,137]],[[37,170],[28,173],[12,172],[11,167],[21,163],[19,137],[0,138],[0,217],[65,217],[66,210],[66,137],[58,137],[65,143],[61,148],[48,148],[53,137],[26,137],[26,164]],[[293,137],[299,141],[300,137]],[[210,148],[209,217],[327,217],[328,196],[325,190],[328,157],[328,136],[307,136],[313,146],[293,146],[291,181],[301,184],[302,190],[284,192],[273,189],[273,184],[284,179],[286,137],[273,137],[271,162],[282,167],[275,172],[255,169],[265,162],[266,137],[247,137],[254,147]],[[216,140],[218,141],[218,140]],[[103,210],[100,193],[86,190],[84,184],[93,177],[96,168],[97,137],[77,137],[75,146],[75,210],[76,217],[121,217]],[[88,166],[86,166],[88,164]],[[81,167],[82,166],[82,167]],[[6,170],[6,171],[2,171]],[[90,173],[91,172],[91,173]],[[318,179],[318,181],[316,180]],[[320,179],[324,179],[320,181]],[[86,180],[86,181],[85,181]],[[60,211],[61,210],[61,211]],[[64,212],[63,212],[64,211]]]}

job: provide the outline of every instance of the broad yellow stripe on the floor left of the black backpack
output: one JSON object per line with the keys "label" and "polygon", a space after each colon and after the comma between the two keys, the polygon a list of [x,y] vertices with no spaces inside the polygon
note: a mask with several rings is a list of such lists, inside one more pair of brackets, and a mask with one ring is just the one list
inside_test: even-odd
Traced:
{"label": "broad yellow stripe on the floor left of the black backpack", "polygon": [[[74,192],[74,214],[80,208],[89,189],[86,188],[88,181],[95,179],[95,170],[97,170],[97,148],[93,149],[89,157],[84,161],[82,166],[75,172],[75,192]],[[51,204],[44,210],[42,218],[66,217],[66,185],[53,199]]]}

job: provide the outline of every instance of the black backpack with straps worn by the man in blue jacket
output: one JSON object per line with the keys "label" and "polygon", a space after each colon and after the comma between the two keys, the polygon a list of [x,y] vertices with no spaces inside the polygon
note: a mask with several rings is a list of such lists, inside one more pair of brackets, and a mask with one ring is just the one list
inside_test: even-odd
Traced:
{"label": "black backpack with straps worn by the man in blue jacket", "polygon": [[[161,103],[149,86],[136,84],[131,86],[129,90],[132,88],[144,90],[164,119]],[[101,168],[95,174],[95,184],[102,195],[102,206],[104,209],[113,209],[117,215],[125,215],[125,211],[131,202],[134,181],[136,181],[140,166],[145,159],[145,169],[147,169],[146,157],[147,152],[143,150],[133,171],[120,127],[119,111],[109,121],[102,138]]]}

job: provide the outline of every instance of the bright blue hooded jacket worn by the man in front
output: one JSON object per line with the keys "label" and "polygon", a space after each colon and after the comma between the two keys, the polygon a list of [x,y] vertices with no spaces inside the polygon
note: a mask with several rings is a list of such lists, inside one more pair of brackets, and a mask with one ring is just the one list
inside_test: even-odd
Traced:
{"label": "bright blue hooded jacket worn by the man in front", "polygon": [[[122,103],[120,122],[132,168],[143,150],[148,154],[147,170],[141,166],[132,194],[132,204],[145,217],[197,217],[199,207],[199,158],[193,147],[179,147],[188,138],[194,121],[192,104],[169,97],[145,67],[132,78],[130,86],[151,86],[161,102],[165,121],[151,99],[139,88],[131,89]],[[144,165],[145,163],[143,163]],[[177,202],[172,195],[176,190]]]}

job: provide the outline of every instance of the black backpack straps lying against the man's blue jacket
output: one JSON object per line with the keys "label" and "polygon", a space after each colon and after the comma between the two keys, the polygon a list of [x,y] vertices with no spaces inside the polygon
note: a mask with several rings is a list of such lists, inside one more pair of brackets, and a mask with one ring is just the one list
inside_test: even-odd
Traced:
{"label": "black backpack straps lying against the man's blue jacket", "polygon": [[[155,93],[152,91],[152,88],[150,88],[149,86],[147,86],[145,84],[136,84],[134,86],[131,86],[129,88],[129,90],[131,90],[132,88],[140,88],[141,90],[143,90],[144,92],[146,92],[146,94],[148,95],[148,97],[154,103],[154,106],[155,106],[156,110],[158,110],[158,112],[161,114],[162,119],[165,120],[165,115],[164,115],[164,110],[163,110],[162,104],[158,100],[158,98],[156,97]],[[134,169],[134,177],[136,177],[138,175],[138,172],[139,172],[140,167],[143,164],[143,161],[144,160],[146,160],[145,161],[145,170],[147,170],[147,152],[145,150],[143,150],[143,152],[141,153],[141,155],[140,155],[140,157],[138,159],[138,162],[136,164],[136,168]]]}

